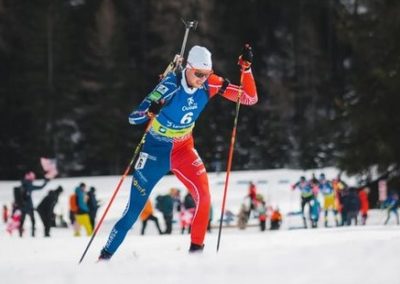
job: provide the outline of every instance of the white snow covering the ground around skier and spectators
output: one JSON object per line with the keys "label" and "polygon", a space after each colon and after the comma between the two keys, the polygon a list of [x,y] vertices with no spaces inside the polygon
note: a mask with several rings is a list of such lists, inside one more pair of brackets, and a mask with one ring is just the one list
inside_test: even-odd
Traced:
{"label": "white snow covering the ground around skier and spectators", "polygon": [[[322,170],[316,170],[318,175]],[[335,169],[324,169],[328,178]],[[189,255],[189,235],[178,228],[172,235],[160,236],[150,222],[145,236],[139,234],[140,222],[128,234],[112,261],[97,263],[112,225],[121,215],[129,195],[128,177],[118,193],[106,220],[94,239],[83,263],[78,261],[89,237],[73,237],[72,229],[52,228],[51,238],[44,238],[37,216],[37,237],[5,232],[0,225],[1,283],[400,283],[398,266],[400,226],[382,226],[385,212],[371,210],[367,226],[289,230],[301,224],[299,216],[285,216],[299,210],[299,194],[290,185],[311,171],[271,170],[234,172],[228,189],[227,208],[237,213],[247,193],[248,182],[271,206],[279,206],[284,214],[280,231],[260,232],[257,226],[246,230],[224,228],[220,250],[216,252],[218,229],[207,234],[201,255]],[[344,177],[352,183],[354,180]],[[81,177],[56,179],[41,191],[34,192],[38,204],[48,189],[64,187],[57,213],[67,219],[68,196],[80,182],[95,186],[105,209],[119,177]],[[213,225],[218,225],[225,174],[210,174]],[[39,183],[39,182],[38,182]],[[0,202],[10,204],[16,181],[0,181]],[[151,199],[169,188],[185,190],[174,176],[164,177],[154,189]],[[159,220],[162,221],[161,215]],[[393,219],[391,220],[394,221]],[[257,220],[251,221],[253,224]],[[161,225],[163,223],[161,222]],[[177,224],[175,224],[177,226]],[[29,232],[30,220],[25,229]],[[316,282],[317,281],[317,282]]]}

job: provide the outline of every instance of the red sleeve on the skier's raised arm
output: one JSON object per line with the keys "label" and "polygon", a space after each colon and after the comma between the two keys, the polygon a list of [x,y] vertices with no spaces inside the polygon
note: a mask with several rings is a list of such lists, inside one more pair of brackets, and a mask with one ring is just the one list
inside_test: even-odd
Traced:
{"label": "red sleeve on the skier's raised arm", "polygon": [[[208,87],[210,97],[214,97],[219,89],[221,88],[224,79],[215,74],[208,78]],[[256,83],[254,81],[251,69],[244,71],[243,73],[243,85],[242,85],[242,96],[240,97],[240,103],[243,105],[254,105],[258,101]],[[229,84],[222,96],[230,101],[236,102],[239,94],[239,86]]]}

